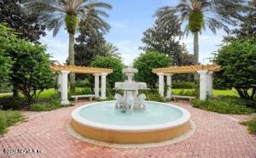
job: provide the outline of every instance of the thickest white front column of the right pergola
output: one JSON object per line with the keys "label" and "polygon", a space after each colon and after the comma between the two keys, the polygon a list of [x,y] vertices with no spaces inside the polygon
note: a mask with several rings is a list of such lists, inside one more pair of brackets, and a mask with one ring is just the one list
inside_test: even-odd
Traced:
{"label": "thickest white front column of the right pergola", "polygon": [[207,91],[208,91],[208,71],[197,71],[200,75],[200,100],[207,99]]}

